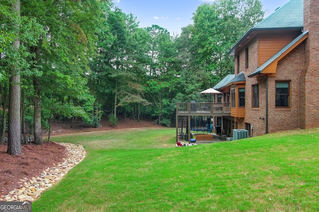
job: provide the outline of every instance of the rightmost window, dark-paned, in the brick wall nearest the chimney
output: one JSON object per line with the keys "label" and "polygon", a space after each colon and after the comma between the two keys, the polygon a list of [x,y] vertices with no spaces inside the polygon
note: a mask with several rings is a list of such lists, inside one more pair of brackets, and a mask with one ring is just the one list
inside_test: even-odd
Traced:
{"label": "rightmost window, dark-paned, in the brick wall nearest the chimney", "polygon": [[290,108],[290,82],[276,82],[276,107]]}

